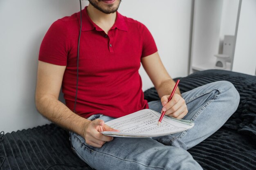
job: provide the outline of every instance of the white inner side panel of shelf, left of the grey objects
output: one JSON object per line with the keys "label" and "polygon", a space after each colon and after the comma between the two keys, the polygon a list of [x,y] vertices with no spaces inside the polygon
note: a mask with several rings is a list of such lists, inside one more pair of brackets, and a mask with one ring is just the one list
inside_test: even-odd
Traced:
{"label": "white inner side panel of shelf, left of the grey objects", "polygon": [[[223,0],[195,0],[191,64],[200,65],[216,60]],[[192,70],[191,70],[192,72]]]}

